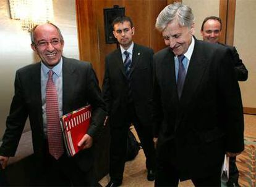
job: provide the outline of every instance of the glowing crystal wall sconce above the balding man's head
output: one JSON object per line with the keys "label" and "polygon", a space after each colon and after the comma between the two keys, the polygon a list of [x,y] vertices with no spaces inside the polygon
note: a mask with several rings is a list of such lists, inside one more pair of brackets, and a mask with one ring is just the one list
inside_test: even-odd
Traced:
{"label": "glowing crystal wall sconce above the balding man's head", "polygon": [[9,0],[11,18],[20,20],[22,30],[31,32],[35,25],[53,19],[52,0]]}

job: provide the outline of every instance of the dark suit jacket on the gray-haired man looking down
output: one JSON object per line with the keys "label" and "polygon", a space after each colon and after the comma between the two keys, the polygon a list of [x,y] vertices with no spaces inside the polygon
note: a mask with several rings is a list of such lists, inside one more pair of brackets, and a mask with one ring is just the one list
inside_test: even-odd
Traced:
{"label": "dark suit jacket on the gray-haired man looking down", "polygon": [[244,150],[244,119],[231,51],[197,41],[179,100],[174,54],[153,57],[153,120],[158,153],[183,177],[209,175],[225,151]]}

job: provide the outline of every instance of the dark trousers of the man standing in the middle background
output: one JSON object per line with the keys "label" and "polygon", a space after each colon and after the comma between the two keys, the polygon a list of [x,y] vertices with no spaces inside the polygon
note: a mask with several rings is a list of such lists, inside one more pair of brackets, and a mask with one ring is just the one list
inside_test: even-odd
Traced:
{"label": "dark trousers of the man standing in the middle background", "polygon": [[110,133],[110,162],[109,175],[111,181],[122,182],[124,165],[126,163],[127,133],[130,124],[133,123],[142,143],[142,148],[146,156],[146,167],[148,170],[155,170],[155,148],[153,143],[153,129],[151,126],[140,124],[137,120],[124,124],[111,124]]}

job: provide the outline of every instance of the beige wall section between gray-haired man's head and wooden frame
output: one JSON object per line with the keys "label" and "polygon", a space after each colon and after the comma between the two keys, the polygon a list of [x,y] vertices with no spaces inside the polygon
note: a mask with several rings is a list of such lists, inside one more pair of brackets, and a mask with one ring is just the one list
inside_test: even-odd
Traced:
{"label": "beige wall section between gray-haired man's head and wooden frame", "polygon": [[195,37],[202,39],[200,29],[205,17],[219,16],[220,0],[182,0],[182,4],[192,8],[195,17]]}

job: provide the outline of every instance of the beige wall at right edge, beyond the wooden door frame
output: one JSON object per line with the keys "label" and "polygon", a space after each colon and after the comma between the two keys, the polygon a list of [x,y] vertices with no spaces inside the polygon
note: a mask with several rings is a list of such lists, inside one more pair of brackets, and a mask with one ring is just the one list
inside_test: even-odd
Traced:
{"label": "beige wall at right edge, beyond the wooden door frame", "polygon": [[240,82],[244,107],[256,108],[256,1],[236,0],[234,46],[249,71],[246,82]]}

